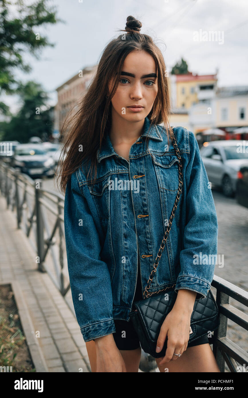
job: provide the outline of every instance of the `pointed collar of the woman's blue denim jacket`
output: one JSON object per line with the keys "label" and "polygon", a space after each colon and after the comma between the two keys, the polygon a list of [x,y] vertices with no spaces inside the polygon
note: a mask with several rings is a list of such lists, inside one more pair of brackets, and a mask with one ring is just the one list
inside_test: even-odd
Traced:
{"label": "pointed collar of the woman's blue denim jacket", "polygon": [[[148,131],[149,127],[150,127],[150,123],[151,121],[148,119],[148,117],[145,118],[145,123],[144,123],[144,129],[143,129],[143,134],[140,135],[140,137],[137,139],[137,141],[141,138],[141,137],[150,137],[151,139],[154,140],[158,140],[158,141],[162,141],[162,137],[158,131],[158,128],[156,126],[152,126],[152,128],[150,129],[150,131]],[[109,156],[115,155],[116,152],[111,144],[111,140],[109,138],[109,132],[106,132],[106,139],[103,140],[102,142],[102,147],[98,149],[97,151],[97,160],[98,163],[101,162],[101,160],[103,158],[107,158]]]}

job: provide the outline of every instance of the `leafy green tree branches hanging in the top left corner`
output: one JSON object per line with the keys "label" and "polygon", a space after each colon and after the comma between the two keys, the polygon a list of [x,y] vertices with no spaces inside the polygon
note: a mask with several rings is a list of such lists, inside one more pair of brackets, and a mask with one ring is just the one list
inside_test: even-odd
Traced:
{"label": "leafy green tree branches hanging in the top left corner", "polygon": [[[13,6],[16,7],[18,18],[11,16]],[[39,27],[62,21],[56,13],[55,7],[48,6],[47,0],[38,0],[29,6],[23,0],[0,0],[0,94],[16,92],[20,84],[16,80],[16,68],[26,73],[31,71],[30,65],[23,60],[23,52],[28,51],[39,59],[44,47],[55,46],[39,33]],[[8,106],[3,102],[0,102],[0,112],[9,114]]]}

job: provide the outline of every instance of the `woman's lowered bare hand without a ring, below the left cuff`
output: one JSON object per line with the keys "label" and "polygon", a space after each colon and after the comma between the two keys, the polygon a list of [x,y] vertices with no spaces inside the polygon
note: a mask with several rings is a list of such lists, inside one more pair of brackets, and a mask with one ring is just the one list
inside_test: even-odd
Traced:
{"label": "woman's lowered bare hand without a ring, below the left cuff", "polygon": [[125,362],[115,344],[113,334],[95,339],[96,372],[126,372]]}

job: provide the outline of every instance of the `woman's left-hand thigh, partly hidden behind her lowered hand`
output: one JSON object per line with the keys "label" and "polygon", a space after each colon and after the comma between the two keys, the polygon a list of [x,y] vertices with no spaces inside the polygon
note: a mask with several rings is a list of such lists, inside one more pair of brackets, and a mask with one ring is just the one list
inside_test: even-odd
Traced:
{"label": "woman's left-hand thigh, partly hidden behind her lowered hand", "polygon": [[[90,360],[90,367],[93,373],[96,372],[96,345],[95,341],[91,340],[86,343],[86,349]],[[141,360],[141,347],[133,350],[120,350],[123,360],[126,365],[127,372],[138,372],[139,363]]]}

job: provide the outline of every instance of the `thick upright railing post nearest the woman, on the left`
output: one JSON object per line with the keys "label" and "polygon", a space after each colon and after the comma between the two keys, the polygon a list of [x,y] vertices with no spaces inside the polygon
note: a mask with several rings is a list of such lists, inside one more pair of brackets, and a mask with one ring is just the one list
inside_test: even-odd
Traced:
{"label": "thick upright railing post nearest the woman, on the left", "polygon": [[42,187],[42,180],[35,180],[36,241],[37,241],[37,255],[39,257],[38,271],[45,272],[45,268],[43,267],[44,226],[43,226],[41,204],[39,202],[39,198],[42,196],[42,193],[40,191],[41,187]]}

